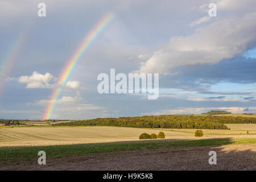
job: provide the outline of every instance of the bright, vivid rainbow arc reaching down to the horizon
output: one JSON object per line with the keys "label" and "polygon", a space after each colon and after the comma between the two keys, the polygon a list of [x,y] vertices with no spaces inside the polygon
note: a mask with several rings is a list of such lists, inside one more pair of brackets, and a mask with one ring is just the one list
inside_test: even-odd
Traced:
{"label": "bright, vivid rainbow arc reaching down to the horizon", "polygon": [[[68,64],[64,67],[63,71],[59,76],[58,82],[61,86],[64,86],[67,83],[69,76],[71,76],[71,73],[75,68],[77,62],[81,58],[82,54],[88,49],[96,36],[104,29],[106,24],[110,22],[113,16],[113,13],[108,13],[104,15],[103,18],[101,18],[101,20],[96,24],[96,26],[94,26],[94,28],[89,32],[89,34],[85,36],[84,40],[82,40],[80,46],[76,49],[75,53],[73,54],[71,59],[69,59]],[[62,88],[57,88],[53,90],[49,104],[46,107],[43,120],[51,118],[61,91]]]}

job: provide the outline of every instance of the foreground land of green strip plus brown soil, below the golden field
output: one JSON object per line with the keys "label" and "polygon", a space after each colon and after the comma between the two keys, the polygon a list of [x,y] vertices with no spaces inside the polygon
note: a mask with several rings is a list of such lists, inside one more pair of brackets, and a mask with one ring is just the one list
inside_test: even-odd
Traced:
{"label": "foreground land of green strip plus brown soil, below the golden field", "polygon": [[[2,148],[1,148],[2,149]],[[37,163],[46,151],[47,164]],[[1,170],[255,170],[255,139],[156,139],[67,146],[4,148]],[[209,164],[209,151],[217,164]],[[26,156],[27,155],[27,156]],[[9,160],[8,160],[9,159]],[[12,160],[13,159],[13,160]]]}

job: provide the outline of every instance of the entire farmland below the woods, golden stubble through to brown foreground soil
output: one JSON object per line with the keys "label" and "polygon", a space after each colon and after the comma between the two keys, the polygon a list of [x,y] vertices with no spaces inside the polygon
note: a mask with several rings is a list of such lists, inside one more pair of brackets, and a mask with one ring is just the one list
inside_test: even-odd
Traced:
{"label": "entire farmland below the woods, golden stubble through to brown foreground soil", "polygon": [[[230,130],[203,129],[200,138],[196,129],[1,126],[0,170],[255,170],[256,124],[225,125]],[[166,139],[138,139],[159,131]],[[41,150],[46,166],[37,164]],[[210,150],[218,151],[220,165],[208,164]]]}

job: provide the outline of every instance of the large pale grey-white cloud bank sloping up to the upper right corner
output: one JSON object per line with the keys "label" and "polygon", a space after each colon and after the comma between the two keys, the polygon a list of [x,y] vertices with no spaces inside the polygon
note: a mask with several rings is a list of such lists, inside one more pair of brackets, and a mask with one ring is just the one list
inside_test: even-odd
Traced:
{"label": "large pale grey-white cloud bank sloping up to the upper right corner", "polygon": [[[233,8],[232,14],[225,18],[217,17],[192,35],[172,37],[165,47],[142,63],[139,72],[170,73],[172,68],[183,65],[215,64],[252,48],[256,42],[256,10],[249,7],[250,11],[246,11],[238,9],[239,6],[228,6],[232,3],[233,1],[226,0],[225,4],[220,4],[221,9]],[[235,3],[239,4],[241,1]],[[251,1],[244,3],[251,6]],[[240,15],[232,16],[236,15],[236,11]]]}

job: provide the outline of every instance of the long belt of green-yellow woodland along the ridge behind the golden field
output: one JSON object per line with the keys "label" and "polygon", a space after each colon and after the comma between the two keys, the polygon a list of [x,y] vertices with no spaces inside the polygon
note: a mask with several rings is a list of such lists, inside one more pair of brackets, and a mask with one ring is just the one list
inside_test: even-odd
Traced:
{"label": "long belt of green-yellow woodland along the ridge behind the golden field", "polygon": [[96,118],[59,126],[123,126],[165,129],[228,129],[224,123],[256,123],[256,118],[202,115],[148,115],[142,117]]}

